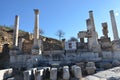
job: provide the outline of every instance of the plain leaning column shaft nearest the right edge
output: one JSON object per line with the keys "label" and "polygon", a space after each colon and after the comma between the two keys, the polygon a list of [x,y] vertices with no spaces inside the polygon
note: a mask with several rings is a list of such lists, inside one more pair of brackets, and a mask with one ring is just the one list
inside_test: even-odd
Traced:
{"label": "plain leaning column shaft nearest the right edge", "polygon": [[117,25],[116,25],[116,21],[115,21],[115,16],[114,16],[114,11],[113,10],[110,10],[110,18],[111,18],[111,24],[112,24],[114,40],[119,40],[118,30],[117,30]]}

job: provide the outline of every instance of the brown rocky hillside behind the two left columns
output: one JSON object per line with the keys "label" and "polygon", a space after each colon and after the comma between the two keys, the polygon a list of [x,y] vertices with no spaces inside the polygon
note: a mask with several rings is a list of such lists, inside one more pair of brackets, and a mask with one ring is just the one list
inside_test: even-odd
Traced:
{"label": "brown rocky hillside behind the two left columns", "polygon": [[[29,36],[31,35],[28,32],[19,30],[19,38],[25,39],[23,47],[26,47],[27,51],[30,52],[31,51],[30,49],[33,44],[33,37],[29,39]],[[48,51],[51,49],[52,50],[62,49],[61,41],[57,39],[48,38],[45,36],[41,36],[41,39],[43,40],[44,51]],[[3,49],[3,46],[5,44],[9,44],[9,46]],[[6,49],[10,49],[12,44],[13,44],[13,29],[7,26],[0,26],[0,68],[7,68],[6,66],[9,65],[9,50]]]}

